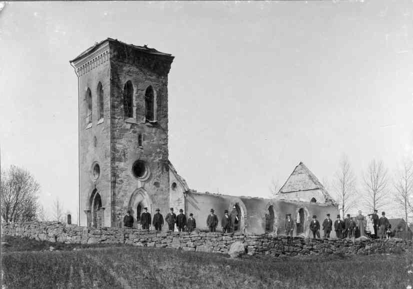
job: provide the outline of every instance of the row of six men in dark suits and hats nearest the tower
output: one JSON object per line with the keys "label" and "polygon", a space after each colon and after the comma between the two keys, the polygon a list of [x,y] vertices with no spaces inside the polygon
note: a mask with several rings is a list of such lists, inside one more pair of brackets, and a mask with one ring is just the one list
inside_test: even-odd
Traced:
{"label": "row of six men in dark suits and hats nearest the tower", "polygon": [[[159,213],[159,208],[155,211],[153,215],[153,220],[151,222],[150,213],[147,212],[147,208],[143,208],[144,212],[140,215],[140,225],[142,230],[149,230],[149,226],[153,225],[156,232],[162,231],[163,226],[163,216]],[[173,208],[169,209],[170,212],[165,217],[165,222],[168,224],[169,231],[175,231],[175,224],[179,232],[192,232],[196,228],[196,222],[193,218],[193,214],[189,214],[189,218],[186,219],[186,216],[183,214],[183,210],[179,209],[179,214],[176,216],[173,213]],[[133,217],[130,215],[130,211],[127,211],[127,215],[123,218],[123,226],[126,228],[133,227]]]}

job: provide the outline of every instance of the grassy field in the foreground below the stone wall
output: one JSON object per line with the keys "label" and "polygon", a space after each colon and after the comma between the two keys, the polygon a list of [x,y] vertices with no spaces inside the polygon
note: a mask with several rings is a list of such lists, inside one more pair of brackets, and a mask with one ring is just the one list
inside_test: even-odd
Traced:
{"label": "grassy field in the foreground below the stone wall", "polygon": [[[6,288],[406,288],[410,255],[250,257],[7,237]],[[59,251],[42,251],[53,246]],[[76,249],[76,250],[73,250]]]}

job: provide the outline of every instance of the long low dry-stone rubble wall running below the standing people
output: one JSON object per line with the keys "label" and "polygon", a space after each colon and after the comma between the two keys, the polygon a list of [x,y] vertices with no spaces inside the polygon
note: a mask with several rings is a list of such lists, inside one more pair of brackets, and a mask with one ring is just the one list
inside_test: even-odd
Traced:
{"label": "long low dry-stone rubble wall running below the standing people", "polygon": [[61,243],[131,244],[138,247],[173,248],[183,251],[228,253],[232,243],[244,245],[248,255],[368,255],[413,252],[412,241],[402,240],[312,240],[302,237],[242,235],[241,233],[166,232],[126,228],[87,228],[57,223],[2,224],[3,235]]}

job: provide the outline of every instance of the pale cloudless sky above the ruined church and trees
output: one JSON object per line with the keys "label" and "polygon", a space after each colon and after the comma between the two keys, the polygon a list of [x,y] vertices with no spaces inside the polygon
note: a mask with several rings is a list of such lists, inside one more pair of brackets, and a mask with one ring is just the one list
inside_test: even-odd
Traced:
{"label": "pale cloudless sky above the ruined church and trees", "polygon": [[75,222],[78,91],[68,61],[111,37],[175,56],[169,159],[190,188],[268,197],[271,180],[282,185],[300,161],[330,182],[343,154],[361,188],[371,160],[392,175],[413,155],[412,13],[403,0],[6,2],[2,168],[29,170],[40,203],[58,198]]}

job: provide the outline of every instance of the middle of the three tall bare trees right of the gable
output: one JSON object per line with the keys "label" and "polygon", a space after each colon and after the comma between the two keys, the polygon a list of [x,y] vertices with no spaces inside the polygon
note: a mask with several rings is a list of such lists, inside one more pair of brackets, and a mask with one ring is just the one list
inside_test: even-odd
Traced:
{"label": "middle of the three tall bare trees right of the gable", "polygon": [[372,160],[363,175],[363,181],[366,207],[371,210],[371,212],[382,208],[386,202],[385,197],[388,193],[387,169],[384,168],[383,162]]}

